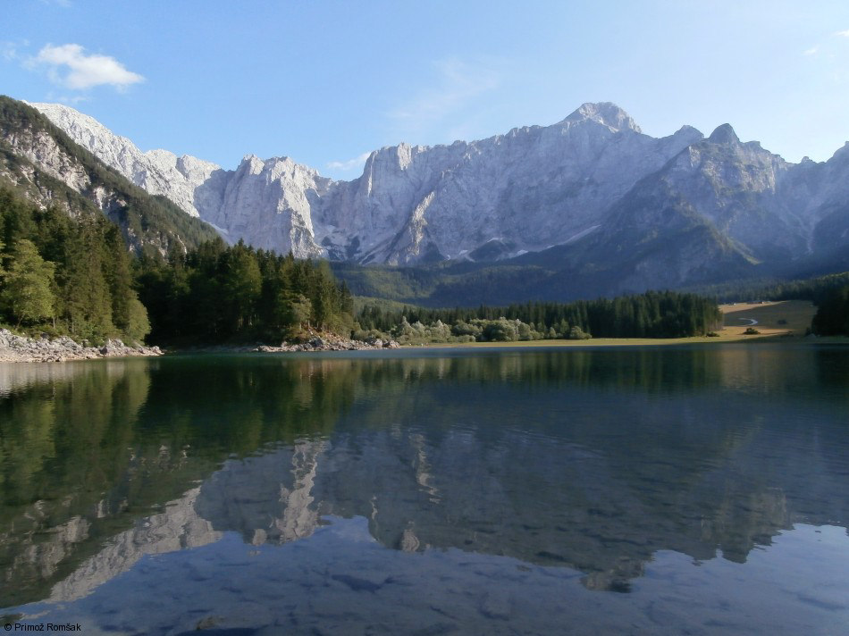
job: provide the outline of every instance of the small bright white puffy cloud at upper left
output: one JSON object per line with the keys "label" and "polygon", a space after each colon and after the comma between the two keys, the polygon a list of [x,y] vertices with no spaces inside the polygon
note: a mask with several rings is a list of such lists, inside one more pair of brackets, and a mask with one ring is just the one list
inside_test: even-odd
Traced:
{"label": "small bright white puffy cloud at upper left", "polygon": [[46,65],[47,77],[55,84],[71,90],[85,90],[104,85],[121,90],[144,81],[139,73],[128,71],[113,57],[86,54],[79,44],[48,44],[30,59],[29,65]]}

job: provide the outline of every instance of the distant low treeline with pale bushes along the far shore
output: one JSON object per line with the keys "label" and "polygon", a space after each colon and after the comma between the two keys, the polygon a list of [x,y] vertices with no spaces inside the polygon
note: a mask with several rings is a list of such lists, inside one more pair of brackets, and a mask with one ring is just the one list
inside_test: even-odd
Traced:
{"label": "distant low treeline with pale bushes along the far shore", "polygon": [[672,291],[574,303],[534,303],[475,308],[407,307],[386,311],[367,305],[357,314],[359,334],[416,339],[532,340],[596,338],[684,338],[722,324],[712,300]]}

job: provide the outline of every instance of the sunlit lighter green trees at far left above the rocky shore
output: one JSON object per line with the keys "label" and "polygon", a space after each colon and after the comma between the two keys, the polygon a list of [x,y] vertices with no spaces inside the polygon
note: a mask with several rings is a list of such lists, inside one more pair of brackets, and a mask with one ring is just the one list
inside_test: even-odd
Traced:
{"label": "sunlit lighter green trees at far left above the rocky shore", "polygon": [[71,218],[0,187],[0,322],[78,340],[145,338],[121,231],[100,213]]}

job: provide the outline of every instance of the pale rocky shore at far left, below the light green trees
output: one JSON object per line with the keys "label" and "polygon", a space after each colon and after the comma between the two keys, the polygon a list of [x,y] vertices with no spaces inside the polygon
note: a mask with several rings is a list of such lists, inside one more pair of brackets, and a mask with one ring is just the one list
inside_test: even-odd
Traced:
{"label": "pale rocky shore at far left, below the light green trees", "polygon": [[0,362],[63,362],[101,357],[162,356],[162,353],[159,347],[130,347],[121,340],[106,340],[103,347],[86,347],[67,336],[33,339],[0,329]]}

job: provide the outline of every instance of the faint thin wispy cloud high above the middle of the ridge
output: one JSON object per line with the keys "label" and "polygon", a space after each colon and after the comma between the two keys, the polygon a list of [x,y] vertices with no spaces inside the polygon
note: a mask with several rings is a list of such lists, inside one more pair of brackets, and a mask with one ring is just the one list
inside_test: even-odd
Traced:
{"label": "faint thin wispy cloud high above the middle of the ridge", "polygon": [[481,64],[467,63],[456,58],[433,64],[436,81],[406,103],[391,110],[389,116],[397,121],[435,121],[466,106],[472,99],[497,88],[499,73]]}

